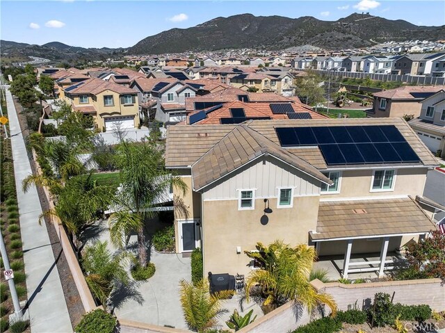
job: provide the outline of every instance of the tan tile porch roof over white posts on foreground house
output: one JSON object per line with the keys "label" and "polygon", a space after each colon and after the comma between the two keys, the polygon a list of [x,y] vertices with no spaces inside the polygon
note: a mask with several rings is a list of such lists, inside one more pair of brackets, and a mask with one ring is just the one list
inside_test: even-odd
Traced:
{"label": "tan tile porch roof over white posts on foreground house", "polygon": [[[355,213],[364,209],[366,213]],[[327,240],[389,234],[424,234],[437,229],[411,197],[386,200],[320,202],[316,233]]]}

